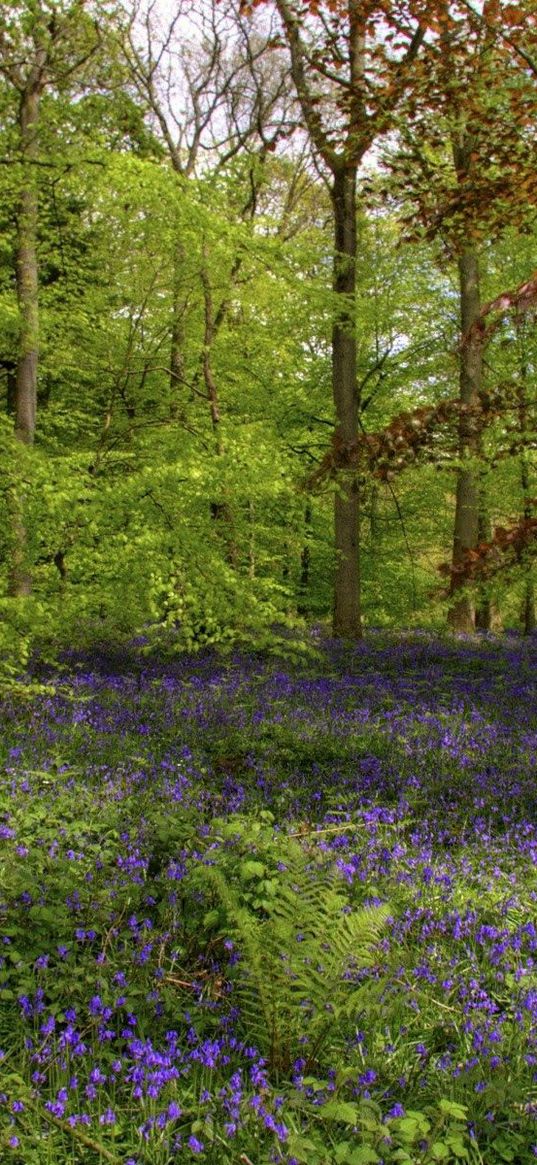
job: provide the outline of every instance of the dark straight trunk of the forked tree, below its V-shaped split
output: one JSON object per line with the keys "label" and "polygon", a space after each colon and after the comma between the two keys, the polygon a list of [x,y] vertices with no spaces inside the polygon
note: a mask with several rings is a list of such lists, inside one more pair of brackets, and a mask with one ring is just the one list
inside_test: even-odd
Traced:
{"label": "dark straight trunk of the forked tree, below its V-shaped split", "polygon": [[[332,330],[332,393],[338,437],[352,443],[358,430],[355,290],[356,167],[341,165],[332,184],[334,214],[335,320]],[[340,297],[338,304],[338,297]],[[335,579],[333,634],[360,638],[360,489],[355,476],[341,476],[334,500]]]}

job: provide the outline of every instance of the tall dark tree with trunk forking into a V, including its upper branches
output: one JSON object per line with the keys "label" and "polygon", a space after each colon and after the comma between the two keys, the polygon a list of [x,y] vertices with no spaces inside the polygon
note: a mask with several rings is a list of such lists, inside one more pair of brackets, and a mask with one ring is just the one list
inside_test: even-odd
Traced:
{"label": "tall dark tree with trunk forking into a V, including its upper branches", "polygon": [[[322,0],[304,6],[275,0],[275,7],[303,125],[330,191],[334,247],[332,394],[338,439],[352,444],[360,415],[355,336],[359,167],[375,139],[394,123],[397,105],[412,83],[426,21],[422,12],[416,15],[419,6],[412,3]],[[356,478],[340,482],[335,492],[334,543],[333,633],[356,637],[361,635]]]}

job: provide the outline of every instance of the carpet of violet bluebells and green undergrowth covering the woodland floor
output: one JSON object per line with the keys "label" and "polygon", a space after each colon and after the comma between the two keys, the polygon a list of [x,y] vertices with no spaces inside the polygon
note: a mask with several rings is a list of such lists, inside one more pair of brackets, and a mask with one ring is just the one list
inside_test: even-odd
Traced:
{"label": "carpet of violet bluebells and green undergrowth covering the woodland floor", "polygon": [[[96,649],[5,694],[1,1160],[537,1158],[536,665],[425,634]],[[297,919],[309,878],[386,909],[323,1038],[304,1005],[275,1050],[232,906],[270,925],[291,852]]]}

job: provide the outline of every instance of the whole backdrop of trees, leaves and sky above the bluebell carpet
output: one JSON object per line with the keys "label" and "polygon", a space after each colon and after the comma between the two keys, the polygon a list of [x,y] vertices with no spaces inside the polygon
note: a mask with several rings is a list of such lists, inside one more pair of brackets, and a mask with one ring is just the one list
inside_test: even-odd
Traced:
{"label": "whole backdrop of trees, leaves and sky above the bluebell carpet", "polygon": [[535,629],[536,52],[532,0],[5,5],[5,676]]}

